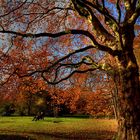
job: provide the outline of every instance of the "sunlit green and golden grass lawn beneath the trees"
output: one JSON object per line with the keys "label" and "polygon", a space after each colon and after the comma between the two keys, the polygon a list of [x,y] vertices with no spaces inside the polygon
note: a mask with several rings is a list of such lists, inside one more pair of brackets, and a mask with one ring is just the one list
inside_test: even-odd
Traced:
{"label": "sunlit green and golden grass lawn beneath the trees", "polygon": [[111,140],[117,129],[117,122],[112,119],[32,119],[0,117],[0,134],[22,135],[37,140]]}

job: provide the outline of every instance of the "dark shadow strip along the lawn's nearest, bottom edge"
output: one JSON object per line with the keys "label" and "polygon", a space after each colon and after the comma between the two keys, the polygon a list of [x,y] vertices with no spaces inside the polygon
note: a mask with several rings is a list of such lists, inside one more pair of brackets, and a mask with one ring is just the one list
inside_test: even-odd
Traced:
{"label": "dark shadow strip along the lawn's nearest, bottom edge", "polygon": [[[24,133],[24,134],[0,134],[0,140],[114,140],[115,132],[70,132],[70,133]],[[31,136],[32,135],[32,136]]]}

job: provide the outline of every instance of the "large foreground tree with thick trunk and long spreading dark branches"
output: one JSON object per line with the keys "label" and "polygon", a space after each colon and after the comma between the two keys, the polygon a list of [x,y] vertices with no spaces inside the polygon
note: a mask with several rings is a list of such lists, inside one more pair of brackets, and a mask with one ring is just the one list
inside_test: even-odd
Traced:
{"label": "large foreground tree with thick trunk and long spreading dark branches", "polygon": [[[24,77],[39,73],[48,83],[57,84],[75,73],[106,71],[119,90],[117,137],[140,139],[139,68],[133,51],[135,36],[139,34],[139,0],[2,0],[0,5],[0,35],[5,40],[0,48],[1,73],[6,73],[1,76],[3,82],[14,74]],[[48,55],[48,64],[40,68],[32,64],[26,72],[19,62],[12,62],[14,66],[8,67],[12,73],[8,73],[2,65],[4,59],[17,47],[21,51],[26,48],[27,53],[29,42],[31,51],[45,45],[48,52],[59,51],[60,55]],[[99,51],[105,52],[100,58],[108,54],[115,64],[94,61]]]}

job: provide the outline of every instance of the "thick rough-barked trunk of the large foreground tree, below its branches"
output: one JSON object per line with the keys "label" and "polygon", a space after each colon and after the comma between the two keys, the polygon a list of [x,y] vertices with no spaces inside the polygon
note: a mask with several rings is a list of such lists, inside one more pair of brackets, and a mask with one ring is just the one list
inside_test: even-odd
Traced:
{"label": "thick rough-barked trunk of the large foreground tree, below its branches", "polygon": [[[140,140],[140,85],[138,65],[133,52],[119,60],[118,140]],[[125,54],[126,56],[126,54]],[[127,59],[129,58],[129,59]],[[132,58],[132,59],[130,59]]]}

